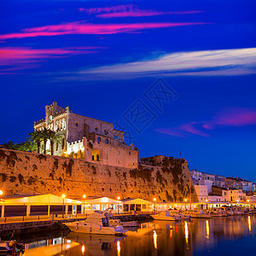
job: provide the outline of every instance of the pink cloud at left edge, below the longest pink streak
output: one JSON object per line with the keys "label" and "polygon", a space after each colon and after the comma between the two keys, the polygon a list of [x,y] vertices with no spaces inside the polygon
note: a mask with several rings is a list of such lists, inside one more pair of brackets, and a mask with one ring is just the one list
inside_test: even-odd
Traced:
{"label": "pink cloud at left edge, below the longest pink streak", "polygon": [[57,49],[32,49],[27,47],[1,47],[0,48],[0,66],[6,66],[1,69],[2,72],[9,72],[19,69],[28,69],[38,67],[38,63],[53,58],[67,57],[70,55],[93,54],[96,49],[102,47],[82,46],[67,47]]}

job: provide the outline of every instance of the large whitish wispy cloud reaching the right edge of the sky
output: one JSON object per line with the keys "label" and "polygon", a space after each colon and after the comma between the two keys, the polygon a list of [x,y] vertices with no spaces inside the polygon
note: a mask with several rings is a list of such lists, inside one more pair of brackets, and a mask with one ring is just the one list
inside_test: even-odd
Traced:
{"label": "large whitish wispy cloud reaching the right edge of the sky", "polygon": [[[102,79],[143,76],[223,76],[256,73],[256,48],[176,52],[148,61],[135,61],[85,69],[79,76],[97,74]],[[81,77],[82,78],[82,77]]]}

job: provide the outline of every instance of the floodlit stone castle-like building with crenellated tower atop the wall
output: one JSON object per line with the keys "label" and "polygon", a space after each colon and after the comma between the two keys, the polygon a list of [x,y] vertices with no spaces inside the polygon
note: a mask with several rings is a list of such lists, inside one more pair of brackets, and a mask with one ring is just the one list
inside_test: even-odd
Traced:
{"label": "floodlit stone castle-like building with crenellated tower atop the wall", "polygon": [[[137,168],[139,150],[125,144],[125,132],[113,129],[113,124],[73,113],[57,102],[45,106],[45,117],[34,123],[35,131],[44,128],[61,134],[61,143],[54,143],[54,154],[81,158],[87,162],[108,166]],[[41,145],[43,148],[44,143]],[[50,143],[46,143],[49,152]],[[43,153],[41,149],[41,153]]]}

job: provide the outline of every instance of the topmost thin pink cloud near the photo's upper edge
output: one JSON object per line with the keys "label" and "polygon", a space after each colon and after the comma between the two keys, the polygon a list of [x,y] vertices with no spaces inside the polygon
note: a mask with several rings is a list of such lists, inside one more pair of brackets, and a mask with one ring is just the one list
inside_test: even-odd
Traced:
{"label": "topmost thin pink cloud near the photo's upper edge", "polygon": [[201,10],[190,10],[190,11],[156,11],[154,9],[139,9],[135,4],[117,5],[105,8],[90,8],[84,9],[79,8],[80,12],[87,14],[94,14],[98,18],[119,18],[119,17],[145,17],[145,16],[156,16],[156,15],[189,15],[201,13]]}

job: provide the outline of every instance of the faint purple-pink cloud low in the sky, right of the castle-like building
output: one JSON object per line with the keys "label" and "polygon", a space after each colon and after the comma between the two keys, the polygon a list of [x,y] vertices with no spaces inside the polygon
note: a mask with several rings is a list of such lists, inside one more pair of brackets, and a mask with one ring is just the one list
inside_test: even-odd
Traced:
{"label": "faint purple-pink cloud low in the sky, right of the castle-like building", "polygon": [[177,127],[160,128],[157,131],[175,137],[197,135],[210,137],[209,131],[224,127],[256,125],[256,110],[251,108],[226,108],[215,114],[212,119],[190,122]]}

